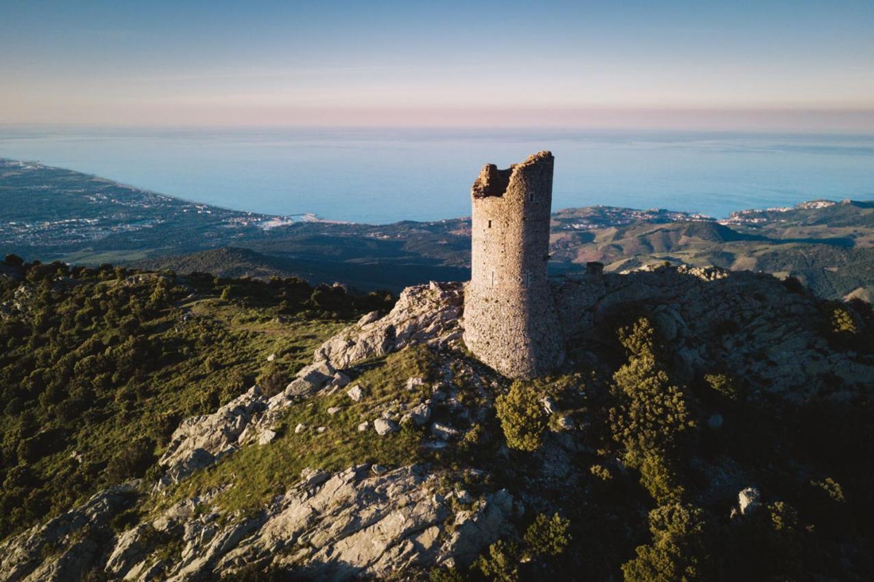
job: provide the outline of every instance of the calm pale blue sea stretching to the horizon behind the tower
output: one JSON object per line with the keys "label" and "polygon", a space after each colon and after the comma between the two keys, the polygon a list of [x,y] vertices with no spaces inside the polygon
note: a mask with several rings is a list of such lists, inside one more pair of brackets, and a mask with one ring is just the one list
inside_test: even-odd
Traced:
{"label": "calm pale blue sea stretching to the horizon behind the tower", "polygon": [[[0,157],[228,209],[355,223],[468,216],[485,163],[555,155],[553,209],[717,218],[874,200],[874,135],[451,128],[0,127]],[[24,201],[26,202],[26,201]]]}

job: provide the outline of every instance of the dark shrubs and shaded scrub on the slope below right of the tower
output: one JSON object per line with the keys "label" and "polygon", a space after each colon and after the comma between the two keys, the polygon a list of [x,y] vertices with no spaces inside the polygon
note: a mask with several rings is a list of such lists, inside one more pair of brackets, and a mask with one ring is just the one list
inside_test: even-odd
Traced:
{"label": "dark shrubs and shaded scrub on the slope below right of the tower", "polygon": [[[854,307],[871,330],[871,306]],[[823,333],[844,349],[874,347],[871,332],[859,333],[840,305],[823,312]],[[551,574],[609,579],[621,565],[628,582],[874,576],[870,392],[792,406],[753,397],[754,385],[724,372],[677,386],[662,363],[669,348],[648,318],[621,325],[617,337],[627,360],[612,380],[516,382],[498,398],[517,462],[543,446],[544,415],[531,403],[545,396],[591,422],[589,438],[600,443],[577,458],[591,463],[592,479],[578,491],[586,503],[563,504],[575,553]],[[768,502],[756,500],[743,514],[726,504],[737,490],[724,488],[738,479]],[[512,557],[496,544],[475,568],[489,572],[486,579],[538,579],[520,576],[525,565]]]}

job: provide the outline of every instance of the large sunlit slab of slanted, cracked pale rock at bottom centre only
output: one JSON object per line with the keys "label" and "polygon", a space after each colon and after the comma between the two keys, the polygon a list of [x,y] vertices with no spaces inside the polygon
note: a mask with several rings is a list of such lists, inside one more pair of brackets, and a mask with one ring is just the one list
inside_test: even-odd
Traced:
{"label": "large sunlit slab of slanted, cracked pale rock at bottom centre only", "polygon": [[[282,496],[257,534],[216,564],[225,571],[277,559],[303,565],[313,579],[384,577],[408,565],[468,563],[505,533],[512,497],[498,491],[475,513],[454,516],[424,468],[373,475],[369,466],[318,472]],[[454,529],[447,536],[447,526]]]}

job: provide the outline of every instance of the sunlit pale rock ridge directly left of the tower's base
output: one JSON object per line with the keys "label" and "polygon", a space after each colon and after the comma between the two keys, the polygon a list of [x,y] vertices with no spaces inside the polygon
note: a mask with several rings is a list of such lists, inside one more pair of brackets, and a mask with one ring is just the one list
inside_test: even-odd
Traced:
{"label": "sunlit pale rock ridge directly left of the tower's base", "polygon": [[319,347],[314,359],[343,369],[413,344],[446,346],[461,338],[461,287],[460,283],[407,287],[385,318],[365,315]]}

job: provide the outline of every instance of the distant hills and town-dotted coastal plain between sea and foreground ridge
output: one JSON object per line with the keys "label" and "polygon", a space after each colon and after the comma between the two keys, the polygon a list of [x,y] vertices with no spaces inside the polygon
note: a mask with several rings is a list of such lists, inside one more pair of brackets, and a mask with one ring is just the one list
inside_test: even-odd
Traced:
{"label": "distant hills and town-dotted coastal plain between sea and foreground ridge", "polygon": [[[17,203],[24,199],[29,203]],[[23,257],[297,276],[363,290],[468,278],[470,222],[463,218],[369,225],[256,215],[8,160],[0,160],[0,201],[0,248]],[[550,268],[714,264],[792,275],[825,298],[864,298],[874,291],[872,248],[874,202],[744,210],[720,223],[688,212],[595,206],[553,214]]]}

